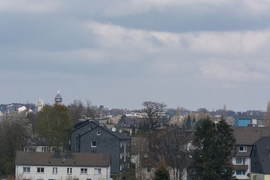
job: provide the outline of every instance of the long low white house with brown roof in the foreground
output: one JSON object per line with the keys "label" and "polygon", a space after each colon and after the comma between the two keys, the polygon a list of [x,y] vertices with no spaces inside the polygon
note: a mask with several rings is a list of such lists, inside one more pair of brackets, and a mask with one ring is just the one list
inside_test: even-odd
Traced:
{"label": "long low white house with brown roof in the foreground", "polygon": [[16,180],[110,180],[111,155],[17,152]]}

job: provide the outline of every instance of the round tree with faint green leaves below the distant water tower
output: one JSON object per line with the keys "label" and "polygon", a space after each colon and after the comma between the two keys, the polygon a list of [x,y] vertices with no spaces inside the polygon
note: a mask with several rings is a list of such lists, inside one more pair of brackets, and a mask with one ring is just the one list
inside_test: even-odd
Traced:
{"label": "round tree with faint green leaves below the distant water tower", "polygon": [[[72,122],[69,118],[68,109],[64,105],[45,105],[38,113],[38,132],[46,139],[49,147],[60,147],[61,143],[66,143],[69,139]],[[69,131],[68,131],[69,130]]]}

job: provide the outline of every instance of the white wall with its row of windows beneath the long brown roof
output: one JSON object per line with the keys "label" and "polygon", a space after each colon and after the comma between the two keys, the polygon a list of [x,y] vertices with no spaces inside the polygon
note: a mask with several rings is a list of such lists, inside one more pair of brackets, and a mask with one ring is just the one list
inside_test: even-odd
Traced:
{"label": "white wall with its row of windows beneath the long brown roof", "polygon": [[[69,168],[67,170],[67,168]],[[71,170],[71,171],[70,171]],[[110,179],[110,167],[27,166],[16,165],[16,180]]]}

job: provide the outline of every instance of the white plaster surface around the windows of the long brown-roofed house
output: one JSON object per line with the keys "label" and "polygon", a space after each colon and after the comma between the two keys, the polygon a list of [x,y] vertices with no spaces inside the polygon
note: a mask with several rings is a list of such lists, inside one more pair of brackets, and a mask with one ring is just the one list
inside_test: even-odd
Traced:
{"label": "white plaster surface around the windows of the long brown-roofed house", "polygon": [[[23,167],[30,167],[30,173],[24,173]],[[44,173],[38,173],[37,168],[44,168]],[[52,168],[58,168],[58,173],[52,173]],[[72,168],[72,174],[67,174],[67,168]],[[81,168],[87,168],[87,174],[81,174]],[[94,169],[100,168],[101,174],[95,174]],[[16,166],[16,180],[22,179],[92,179],[92,180],[110,180],[110,167],[67,167],[67,166]]]}

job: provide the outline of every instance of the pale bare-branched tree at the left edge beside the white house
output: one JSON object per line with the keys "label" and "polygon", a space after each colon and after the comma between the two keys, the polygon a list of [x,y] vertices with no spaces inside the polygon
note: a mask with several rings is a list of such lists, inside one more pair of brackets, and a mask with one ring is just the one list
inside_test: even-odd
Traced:
{"label": "pale bare-branched tree at the left edge beside the white house", "polygon": [[0,172],[14,174],[16,151],[27,151],[32,145],[32,124],[26,112],[10,112],[0,122]]}

